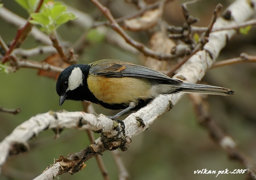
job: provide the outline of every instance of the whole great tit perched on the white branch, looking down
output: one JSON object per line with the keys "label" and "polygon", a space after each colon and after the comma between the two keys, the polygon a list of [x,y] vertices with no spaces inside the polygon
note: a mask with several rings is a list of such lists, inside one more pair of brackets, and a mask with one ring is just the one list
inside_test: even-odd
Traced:
{"label": "whole great tit perched on the white branch, looking down", "polygon": [[56,91],[60,105],[66,99],[86,100],[107,109],[123,109],[111,119],[139,110],[160,94],[234,94],[228,88],[184,83],[156,70],[113,59],[69,66],[60,73]]}

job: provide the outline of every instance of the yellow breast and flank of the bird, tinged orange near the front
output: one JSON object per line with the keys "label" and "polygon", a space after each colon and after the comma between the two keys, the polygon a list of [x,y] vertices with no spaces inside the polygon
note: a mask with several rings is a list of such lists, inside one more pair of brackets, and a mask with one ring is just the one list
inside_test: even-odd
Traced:
{"label": "yellow breast and flank of the bird, tinged orange near the front", "polygon": [[97,99],[108,104],[137,103],[151,97],[150,82],[140,78],[89,75],[87,84]]}

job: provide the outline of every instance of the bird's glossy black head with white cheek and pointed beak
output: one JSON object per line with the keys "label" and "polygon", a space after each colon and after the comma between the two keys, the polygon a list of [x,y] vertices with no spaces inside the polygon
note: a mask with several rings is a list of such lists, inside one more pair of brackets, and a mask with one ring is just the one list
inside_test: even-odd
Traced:
{"label": "bird's glossy black head with white cheek and pointed beak", "polygon": [[60,105],[66,99],[82,101],[81,96],[84,86],[87,88],[86,78],[90,66],[87,64],[74,64],[64,69],[58,77],[56,91],[60,96]]}

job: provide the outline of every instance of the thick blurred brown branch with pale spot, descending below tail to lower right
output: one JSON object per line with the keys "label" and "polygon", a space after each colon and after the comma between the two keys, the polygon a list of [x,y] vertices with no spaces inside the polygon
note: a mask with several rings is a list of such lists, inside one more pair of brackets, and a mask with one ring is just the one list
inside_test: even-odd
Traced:
{"label": "thick blurred brown branch with pale spot, descending below tail to lower right", "polygon": [[230,159],[241,162],[249,171],[248,175],[250,178],[255,179],[256,164],[252,161],[251,157],[245,155],[244,152],[237,148],[236,142],[228,134],[224,133],[220,126],[212,119],[208,103],[198,94],[190,94],[189,97],[194,105],[199,124],[209,131],[212,139],[226,151]]}

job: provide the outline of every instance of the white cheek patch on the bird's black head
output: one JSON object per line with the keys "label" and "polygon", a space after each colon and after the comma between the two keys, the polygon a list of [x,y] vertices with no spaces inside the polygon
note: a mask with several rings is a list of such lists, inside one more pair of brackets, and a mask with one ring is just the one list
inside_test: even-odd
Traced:
{"label": "white cheek patch on the bird's black head", "polygon": [[68,77],[68,90],[74,90],[79,86],[83,85],[84,75],[79,67],[72,70],[70,76]]}

